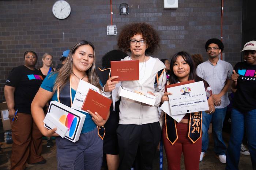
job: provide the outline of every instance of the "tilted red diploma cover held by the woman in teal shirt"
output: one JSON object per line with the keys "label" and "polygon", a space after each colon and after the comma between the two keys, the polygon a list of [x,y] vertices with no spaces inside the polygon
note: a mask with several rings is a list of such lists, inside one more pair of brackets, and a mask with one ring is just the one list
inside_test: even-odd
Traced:
{"label": "tilted red diploma cover held by the woman in teal shirt", "polygon": [[111,103],[112,100],[89,89],[81,109],[86,112],[87,110],[90,110],[93,113],[97,112],[104,120],[106,120]]}

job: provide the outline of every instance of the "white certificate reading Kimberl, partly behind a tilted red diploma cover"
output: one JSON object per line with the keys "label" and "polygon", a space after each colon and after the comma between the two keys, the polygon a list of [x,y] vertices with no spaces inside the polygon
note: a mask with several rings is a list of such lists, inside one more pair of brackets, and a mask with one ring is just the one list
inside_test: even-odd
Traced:
{"label": "white certificate reading Kimberl, partly behind a tilted red diploma cover", "polygon": [[86,111],[82,110],[81,108],[83,106],[84,99],[86,98],[86,95],[87,95],[89,89],[100,93],[99,88],[96,86],[93,86],[93,84],[87,83],[83,80],[79,81],[79,84],[78,84],[78,87],[76,90],[76,94],[75,94],[75,98],[74,98],[71,108],[74,108],[75,110],[86,112]]}

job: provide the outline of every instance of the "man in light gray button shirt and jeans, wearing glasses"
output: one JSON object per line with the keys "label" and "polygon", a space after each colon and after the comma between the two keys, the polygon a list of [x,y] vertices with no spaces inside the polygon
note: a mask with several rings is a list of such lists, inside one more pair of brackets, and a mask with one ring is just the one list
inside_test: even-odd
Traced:
{"label": "man in light gray button shirt and jeans, wearing glasses", "polygon": [[219,54],[224,49],[224,45],[219,39],[209,39],[205,44],[205,49],[209,59],[196,68],[196,74],[206,80],[212,89],[212,99],[215,105],[215,112],[207,114],[203,112],[203,126],[202,126],[202,152],[200,161],[208,148],[208,129],[212,120],[213,138],[214,138],[214,152],[222,163],[226,163],[226,145],[222,139],[222,127],[226,116],[227,105],[229,105],[229,98],[227,91],[231,86],[231,74],[233,67],[230,63],[219,59]]}

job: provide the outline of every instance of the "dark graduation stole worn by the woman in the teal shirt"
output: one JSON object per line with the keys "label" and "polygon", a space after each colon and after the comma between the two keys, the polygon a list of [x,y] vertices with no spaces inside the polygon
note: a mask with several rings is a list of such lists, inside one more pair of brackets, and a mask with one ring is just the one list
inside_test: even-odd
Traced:
{"label": "dark graduation stole worn by the woman in the teal shirt", "polygon": [[[72,106],[72,94],[71,94],[71,77],[69,77],[69,81],[66,85],[61,89],[57,88],[57,99],[58,102],[65,104],[68,107]],[[105,136],[105,127],[104,126],[97,126],[98,135],[103,140]]]}

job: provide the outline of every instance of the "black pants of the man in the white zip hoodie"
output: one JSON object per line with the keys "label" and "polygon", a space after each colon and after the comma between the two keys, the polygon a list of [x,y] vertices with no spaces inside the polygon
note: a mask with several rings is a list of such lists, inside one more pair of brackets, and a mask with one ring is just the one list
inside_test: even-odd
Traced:
{"label": "black pants of the man in the white zip hoodie", "polygon": [[161,138],[159,122],[142,125],[119,124],[117,128],[120,166],[119,170],[131,170],[138,146],[143,170],[151,170],[154,154]]}

